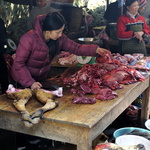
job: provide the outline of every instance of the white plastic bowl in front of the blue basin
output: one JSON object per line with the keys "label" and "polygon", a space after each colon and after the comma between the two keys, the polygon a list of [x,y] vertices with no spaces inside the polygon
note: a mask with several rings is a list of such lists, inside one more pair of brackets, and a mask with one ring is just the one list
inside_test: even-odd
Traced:
{"label": "white plastic bowl in front of the blue basin", "polygon": [[122,135],[116,138],[115,143],[119,146],[132,146],[143,144],[146,150],[150,150],[150,141],[137,135]]}

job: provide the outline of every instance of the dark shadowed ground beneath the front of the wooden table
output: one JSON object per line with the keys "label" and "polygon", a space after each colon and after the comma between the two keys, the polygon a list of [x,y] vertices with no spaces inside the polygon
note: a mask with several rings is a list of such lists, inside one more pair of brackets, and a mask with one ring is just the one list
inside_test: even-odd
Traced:
{"label": "dark shadowed ground beneath the front of the wooden table", "polygon": [[[35,146],[27,143],[26,138],[33,140],[26,135],[0,129],[0,150],[76,150],[75,145],[46,139],[41,140],[41,145]],[[34,141],[38,139],[34,137]]]}

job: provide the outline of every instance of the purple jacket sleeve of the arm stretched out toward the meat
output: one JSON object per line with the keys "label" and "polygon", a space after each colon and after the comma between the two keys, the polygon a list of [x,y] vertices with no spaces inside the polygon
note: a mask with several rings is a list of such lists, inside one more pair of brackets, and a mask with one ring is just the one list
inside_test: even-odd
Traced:
{"label": "purple jacket sleeve of the arm stretched out toward the meat", "polygon": [[64,34],[59,39],[59,49],[69,51],[78,56],[96,56],[96,49],[98,47],[95,44],[78,44],[67,38]]}

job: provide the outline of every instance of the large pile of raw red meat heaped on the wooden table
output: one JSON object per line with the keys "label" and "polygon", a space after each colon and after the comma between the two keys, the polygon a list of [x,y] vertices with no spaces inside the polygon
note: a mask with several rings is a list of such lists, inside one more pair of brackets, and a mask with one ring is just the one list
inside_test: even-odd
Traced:
{"label": "large pile of raw red meat heaped on the wooden table", "polygon": [[[73,99],[73,103],[95,103],[95,98],[100,100],[114,99],[118,95],[113,90],[123,88],[121,84],[145,80],[140,72],[128,66],[131,57],[123,56],[122,61],[116,59],[119,57],[121,58],[119,54],[98,56],[97,63],[86,64],[75,74],[64,78],[63,83],[70,86],[70,92],[78,95]],[[138,57],[140,59],[142,56]],[[130,59],[127,60],[127,58]],[[90,93],[96,94],[93,100],[88,100],[85,97],[85,94]]]}

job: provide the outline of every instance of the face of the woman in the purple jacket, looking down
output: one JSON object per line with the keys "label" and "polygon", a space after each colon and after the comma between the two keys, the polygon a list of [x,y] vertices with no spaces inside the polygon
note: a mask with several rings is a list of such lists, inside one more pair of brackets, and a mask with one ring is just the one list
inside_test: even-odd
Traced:
{"label": "face of the woman in the purple jacket, looking down", "polygon": [[65,25],[58,30],[45,31],[45,34],[44,34],[45,40],[46,41],[48,41],[50,39],[57,40],[58,38],[60,38],[62,36],[64,28],[65,28]]}

